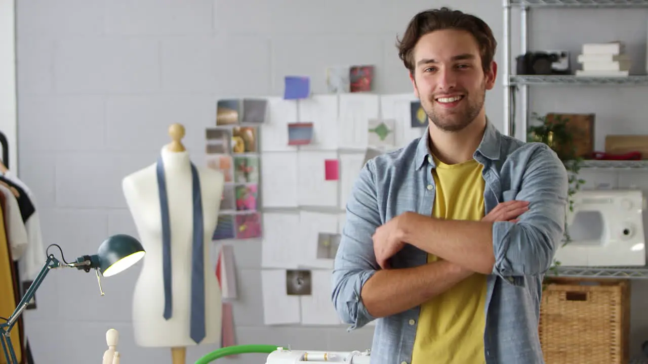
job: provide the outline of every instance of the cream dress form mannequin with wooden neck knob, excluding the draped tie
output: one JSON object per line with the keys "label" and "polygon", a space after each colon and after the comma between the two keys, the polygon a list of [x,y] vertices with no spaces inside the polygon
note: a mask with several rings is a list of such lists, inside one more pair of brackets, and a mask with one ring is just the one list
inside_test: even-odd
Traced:
{"label": "cream dress form mannequin with wooden neck knob, excluding the draped tie", "polygon": [[[163,228],[157,163],[124,177],[122,189],[133,216],[146,259],[133,293],[135,343],[141,347],[170,347],[173,364],[185,364],[185,348],[196,345],[190,336],[192,303],[193,191],[189,153],[180,142],[184,128],[173,124],[172,139],[161,150],[170,225],[172,315],[165,319],[163,280]],[[221,292],[211,268],[209,250],[218,221],[224,176],[196,166],[203,211],[203,267],[205,286],[205,337],[203,343],[220,343]]]}

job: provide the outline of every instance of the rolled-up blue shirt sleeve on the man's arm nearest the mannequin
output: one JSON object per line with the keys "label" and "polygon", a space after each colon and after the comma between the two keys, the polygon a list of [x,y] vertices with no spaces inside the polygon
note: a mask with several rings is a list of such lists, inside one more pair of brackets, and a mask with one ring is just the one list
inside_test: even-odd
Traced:
{"label": "rolled-up blue shirt sleeve on the man's arm nearest the mannequin", "polygon": [[349,331],[375,319],[360,295],[378,269],[371,238],[380,226],[373,168],[373,161],[367,162],[354,183],[332,273],[331,299],[340,319],[351,324]]}

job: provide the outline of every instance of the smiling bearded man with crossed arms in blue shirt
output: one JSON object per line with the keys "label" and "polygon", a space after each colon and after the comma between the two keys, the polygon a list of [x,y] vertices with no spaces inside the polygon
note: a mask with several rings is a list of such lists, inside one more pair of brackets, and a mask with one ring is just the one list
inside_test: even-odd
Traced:
{"label": "smiling bearded man with crossed arms in blue shirt", "polygon": [[378,319],[371,363],[544,363],[538,315],[564,233],[564,165],[487,119],[496,41],[480,18],[421,12],[398,47],[428,128],[362,168],[336,310],[350,330]]}

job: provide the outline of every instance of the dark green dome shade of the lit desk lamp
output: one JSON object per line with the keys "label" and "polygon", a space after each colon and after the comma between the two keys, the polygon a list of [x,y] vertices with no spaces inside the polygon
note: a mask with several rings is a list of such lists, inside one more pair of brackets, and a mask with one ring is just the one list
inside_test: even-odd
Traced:
{"label": "dark green dome shade of the lit desk lamp", "polygon": [[139,262],[144,255],[144,247],[137,239],[126,234],[113,235],[99,246],[99,269],[104,277],[110,277]]}

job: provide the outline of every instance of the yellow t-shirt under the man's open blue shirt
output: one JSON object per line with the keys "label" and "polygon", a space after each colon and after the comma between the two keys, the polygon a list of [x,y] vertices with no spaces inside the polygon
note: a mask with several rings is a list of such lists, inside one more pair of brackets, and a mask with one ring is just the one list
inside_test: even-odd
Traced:
{"label": "yellow t-shirt under the man's open blue shirt", "polygon": [[[435,218],[481,220],[484,212],[482,165],[474,159],[446,165],[435,158]],[[437,260],[428,255],[428,262]],[[474,273],[421,305],[412,364],[485,363],[483,333],[486,276]]]}

